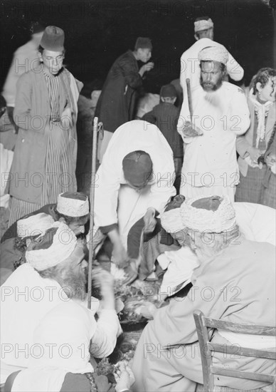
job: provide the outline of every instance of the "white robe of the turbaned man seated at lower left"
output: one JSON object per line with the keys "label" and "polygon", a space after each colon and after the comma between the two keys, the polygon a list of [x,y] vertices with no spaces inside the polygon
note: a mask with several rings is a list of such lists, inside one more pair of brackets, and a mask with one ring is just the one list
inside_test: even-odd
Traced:
{"label": "white robe of the turbaned man seated at lower left", "polygon": [[[94,319],[95,311],[86,308],[86,299],[83,299],[83,301],[69,299],[58,282],[55,282],[53,279],[43,279],[30,264],[22,264],[18,267],[0,287],[0,290],[0,383],[4,383],[9,374],[20,370],[20,368],[38,366],[37,363],[34,363],[36,356],[33,355],[33,349],[35,349],[36,344],[41,344],[43,339],[47,341],[48,336],[44,332],[43,334],[39,333],[40,337],[37,339],[37,333],[44,328],[46,321],[49,320],[47,316],[53,314],[53,309],[56,306],[62,306],[64,303],[73,302],[75,305],[72,304],[71,308],[75,306],[74,309],[81,306],[82,309],[76,309],[74,313],[77,314],[75,323],[78,323],[82,310],[83,317],[86,320],[90,320],[89,322],[87,321],[89,324],[87,328],[89,329],[89,339],[92,339],[92,344],[95,344],[97,348],[95,353],[93,353],[94,356],[100,358],[108,356],[115,348],[117,336],[122,331],[115,310],[102,309],[99,312],[99,319],[96,323]],[[92,309],[95,308],[93,306],[95,303],[98,303],[98,301],[92,301]],[[66,312],[66,309],[63,309],[63,307],[60,309]],[[70,321],[70,324],[72,323],[73,320]],[[51,339],[61,339],[62,336],[62,331],[53,329]],[[87,354],[86,351],[85,354]],[[58,367],[58,356],[56,356],[56,359],[55,363],[53,361],[53,366]],[[87,361],[83,364],[85,371],[87,371]],[[49,365],[51,366],[51,361],[49,361]],[[72,366],[72,363],[70,366]],[[64,368],[63,364],[60,367]],[[80,368],[81,366],[79,366],[79,369],[76,369],[76,373],[78,373]]]}

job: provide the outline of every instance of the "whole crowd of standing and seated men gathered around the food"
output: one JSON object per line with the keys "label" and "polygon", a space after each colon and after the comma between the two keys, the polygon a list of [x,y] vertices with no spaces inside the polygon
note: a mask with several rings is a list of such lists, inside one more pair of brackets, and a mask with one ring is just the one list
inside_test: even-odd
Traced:
{"label": "whole crowd of standing and seated men gathered around the food", "polygon": [[[152,321],[132,370],[121,364],[115,375],[117,392],[195,391],[203,383],[196,309],[223,321],[275,326],[276,71],[256,70],[246,95],[226,81],[241,81],[243,68],[213,41],[213,21],[198,18],[194,28],[196,43],[181,56],[180,110],[169,84],[161,88],[160,103],[135,119],[138,89],[154,67],[149,38],[137,38],[134,50],[110,69],[96,108],[104,136],[94,205],[77,192],[83,83],[63,66],[64,31],[33,31],[32,66],[18,81],[13,67],[21,51],[15,53],[1,99],[1,130],[17,133],[12,156],[1,144],[9,160],[1,190],[11,195],[0,262],[5,391],[111,391],[107,378],[97,376],[95,358],[112,354],[122,333],[114,279],[158,279],[159,270],[161,299],[191,284],[181,301],[144,306],[142,314]],[[92,298],[92,309],[88,242],[98,262],[107,257],[111,265],[110,273],[92,270],[101,296]],[[208,300],[206,287],[212,290]],[[218,330],[212,339],[275,351],[273,337],[245,340]],[[213,361],[275,373],[273,360],[221,354]],[[221,376],[215,383],[267,386]]]}

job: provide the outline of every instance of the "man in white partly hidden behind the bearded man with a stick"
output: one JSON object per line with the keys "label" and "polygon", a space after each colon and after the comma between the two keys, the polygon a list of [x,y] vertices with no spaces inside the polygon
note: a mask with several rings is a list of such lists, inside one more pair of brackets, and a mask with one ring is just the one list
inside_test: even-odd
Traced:
{"label": "man in white partly hidden behind the bearded man with a stick", "polygon": [[[191,48],[184,51],[181,56],[180,84],[183,88],[184,97],[186,96],[186,78],[191,81],[191,89],[199,86],[201,69],[198,61],[198,53],[207,46],[220,46],[221,44],[213,41],[213,21],[208,16],[197,18],[194,22],[194,32],[196,42]],[[228,52],[226,72],[233,81],[240,81],[243,78],[243,68],[235,61],[235,58]]]}

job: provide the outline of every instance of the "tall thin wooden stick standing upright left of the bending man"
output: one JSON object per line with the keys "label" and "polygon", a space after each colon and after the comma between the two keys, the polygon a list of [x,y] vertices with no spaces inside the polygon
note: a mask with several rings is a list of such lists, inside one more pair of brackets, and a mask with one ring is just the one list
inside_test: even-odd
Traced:
{"label": "tall thin wooden stick standing upright left of the bending man", "polygon": [[93,122],[93,145],[92,145],[92,172],[90,184],[90,228],[89,228],[89,258],[88,258],[88,309],[91,309],[91,292],[92,292],[92,264],[93,264],[93,227],[94,227],[94,200],[95,200],[95,179],[96,179],[96,162],[97,162],[97,121]]}

